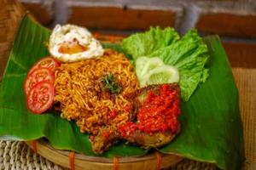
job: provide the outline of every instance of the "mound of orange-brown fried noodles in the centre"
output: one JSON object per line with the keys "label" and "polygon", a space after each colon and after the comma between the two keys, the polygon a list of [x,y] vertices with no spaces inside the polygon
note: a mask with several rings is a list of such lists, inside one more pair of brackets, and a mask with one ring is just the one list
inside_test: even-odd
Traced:
{"label": "mound of orange-brown fried noodles in the centre", "polygon": [[[102,77],[108,73],[120,83],[120,94],[102,90]],[[96,134],[102,126],[131,121],[131,94],[138,88],[129,59],[113,49],[97,59],[62,64],[55,71],[55,102],[61,104],[61,117],[75,120],[82,133]],[[111,116],[112,111],[117,115]]]}

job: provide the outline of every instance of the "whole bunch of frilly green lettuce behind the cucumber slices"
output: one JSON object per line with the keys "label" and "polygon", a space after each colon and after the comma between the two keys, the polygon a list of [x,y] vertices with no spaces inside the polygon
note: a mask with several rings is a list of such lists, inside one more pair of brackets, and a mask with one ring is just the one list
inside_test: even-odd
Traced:
{"label": "whole bunch of frilly green lettuce behind the cucumber slices", "polygon": [[125,38],[122,47],[134,60],[140,56],[160,57],[166,65],[177,67],[183,101],[188,101],[200,82],[205,82],[209,76],[205,68],[209,59],[207,45],[195,30],[179,39],[177,33],[171,32],[171,28],[151,28],[145,33]]}

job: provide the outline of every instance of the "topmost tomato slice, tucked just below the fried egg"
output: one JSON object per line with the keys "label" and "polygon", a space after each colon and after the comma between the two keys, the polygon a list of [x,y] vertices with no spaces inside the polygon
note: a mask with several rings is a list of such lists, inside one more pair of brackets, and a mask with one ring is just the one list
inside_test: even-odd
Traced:
{"label": "topmost tomato slice, tucked just below the fried egg", "polygon": [[32,71],[38,68],[48,68],[50,71],[55,71],[55,69],[60,65],[61,63],[56,59],[53,59],[50,56],[44,57],[43,59],[40,59],[35,65],[32,66],[32,68],[28,72],[28,75],[31,74]]}

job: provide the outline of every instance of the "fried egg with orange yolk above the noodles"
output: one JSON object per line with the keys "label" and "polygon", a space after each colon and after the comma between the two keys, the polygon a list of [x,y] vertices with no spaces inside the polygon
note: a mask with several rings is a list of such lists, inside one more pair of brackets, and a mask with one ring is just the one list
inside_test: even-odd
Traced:
{"label": "fried egg with orange yolk above the noodles", "polygon": [[104,50],[86,28],[56,25],[49,37],[49,53],[63,62],[75,62],[102,56]]}

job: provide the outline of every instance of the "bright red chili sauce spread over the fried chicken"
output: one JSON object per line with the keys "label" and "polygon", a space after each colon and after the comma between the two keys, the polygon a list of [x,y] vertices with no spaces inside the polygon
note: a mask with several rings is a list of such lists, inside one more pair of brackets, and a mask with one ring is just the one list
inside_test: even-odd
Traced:
{"label": "bright red chili sauce spread over the fried chicken", "polygon": [[158,132],[171,131],[177,133],[181,113],[180,99],[177,90],[170,89],[168,84],[160,87],[160,93],[149,91],[137,114],[137,123],[127,122],[119,126],[122,136],[128,137],[136,129],[153,135]]}

